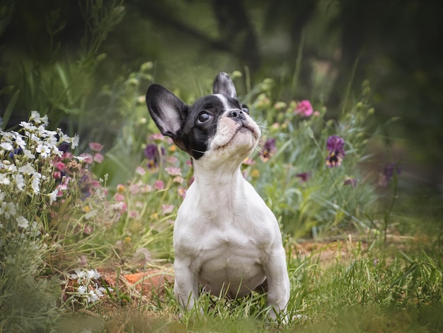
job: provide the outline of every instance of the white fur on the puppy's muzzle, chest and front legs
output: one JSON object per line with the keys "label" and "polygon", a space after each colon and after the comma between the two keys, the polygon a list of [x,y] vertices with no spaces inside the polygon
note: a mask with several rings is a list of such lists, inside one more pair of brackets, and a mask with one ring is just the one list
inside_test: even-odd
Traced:
{"label": "white fur on the puppy's muzzle, chest and front legs", "polygon": [[214,295],[236,298],[267,280],[268,305],[280,312],[289,300],[282,235],[272,211],[240,170],[260,129],[246,113],[248,128],[226,114],[219,119],[208,151],[193,161],[195,181],[178,210],[174,292],[189,310],[199,285]]}

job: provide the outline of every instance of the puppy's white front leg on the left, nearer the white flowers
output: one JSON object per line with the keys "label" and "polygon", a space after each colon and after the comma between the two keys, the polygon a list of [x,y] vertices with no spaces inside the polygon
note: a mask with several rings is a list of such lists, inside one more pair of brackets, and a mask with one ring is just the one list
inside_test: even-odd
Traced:
{"label": "puppy's white front leg on the left, nearer the white flowers", "polygon": [[176,274],[174,294],[185,311],[192,310],[198,298],[198,278],[197,274],[192,271],[191,264],[190,258],[176,257],[174,261]]}

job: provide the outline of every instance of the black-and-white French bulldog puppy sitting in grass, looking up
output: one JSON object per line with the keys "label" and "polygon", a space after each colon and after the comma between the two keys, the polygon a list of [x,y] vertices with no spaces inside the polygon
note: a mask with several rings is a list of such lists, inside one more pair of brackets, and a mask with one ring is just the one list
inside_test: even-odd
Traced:
{"label": "black-and-white French bulldog puppy sitting in grass, looking up", "polygon": [[218,74],[213,94],[192,106],[152,84],[146,104],[160,132],[190,154],[194,167],[195,181],[173,233],[176,298],[190,310],[199,286],[230,298],[265,290],[274,309],[270,316],[277,317],[289,300],[282,235],[272,211],[241,174],[260,128],[238,102],[231,78]]}

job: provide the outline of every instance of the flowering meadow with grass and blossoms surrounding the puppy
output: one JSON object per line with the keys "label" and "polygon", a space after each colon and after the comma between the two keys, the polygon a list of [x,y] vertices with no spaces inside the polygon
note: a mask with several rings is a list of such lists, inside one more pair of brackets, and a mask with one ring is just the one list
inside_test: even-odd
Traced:
{"label": "flowering meadow with grass and blossoms surrounding the puppy", "polygon": [[[100,43],[121,19],[113,4],[91,9],[97,26],[78,59],[39,71],[23,62],[25,89],[1,91],[1,332],[443,331],[441,198],[408,191],[386,143],[398,119],[380,123],[371,82],[352,89],[351,75],[331,111],[320,94],[282,98],[275,79],[251,84],[247,67],[229,74],[262,137],[241,169],[282,230],[289,322],[269,321],[255,293],[201,295],[203,315],[180,314],[172,233],[192,165],[149,119],[144,94],[156,64],[85,97],[104,59]],[[48,27],[52,36],[62,29]],[[303,61],[293,88],[303,85]],[[192,103],[213,77],[199,77],[193,95],[174,92]],[[329,79],[314,78],[313,90]],[[28,104],[39,108],[8,125]]]}

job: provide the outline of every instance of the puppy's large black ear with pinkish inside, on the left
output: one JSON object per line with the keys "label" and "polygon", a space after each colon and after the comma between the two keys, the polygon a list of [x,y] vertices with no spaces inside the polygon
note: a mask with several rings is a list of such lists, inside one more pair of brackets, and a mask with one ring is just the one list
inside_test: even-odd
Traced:
{"label": "puppy's large black ear with pinkish inside, on the left", "polygon": [[146,106],[161,134],[177,139],[185,123],[188,106],[160,84],[149,86]]}

